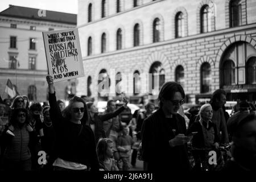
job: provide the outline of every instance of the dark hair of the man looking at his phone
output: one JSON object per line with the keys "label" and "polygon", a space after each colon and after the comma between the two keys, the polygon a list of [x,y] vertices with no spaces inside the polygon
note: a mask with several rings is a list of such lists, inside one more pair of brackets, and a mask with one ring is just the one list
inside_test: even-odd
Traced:
{"label": "dark hair of the man looking at his phone", "polygon": [[184,98],[185,93],[180,84],[174,81],[167,81],[165,82],[159,92],[158,100],[160,102],[160,107],[163,106],[162,99],[164,100],[172,100],[174,97],[175,92],[180,92],[181,96]]}

